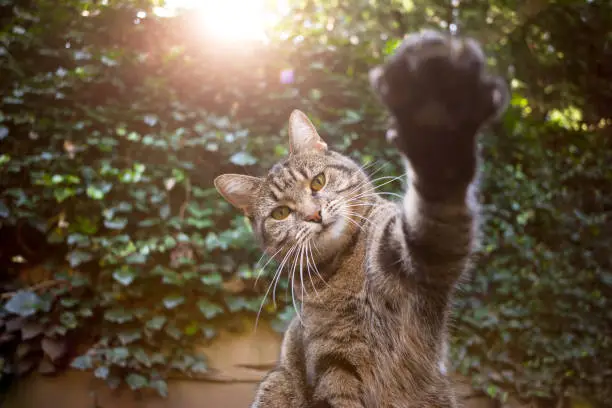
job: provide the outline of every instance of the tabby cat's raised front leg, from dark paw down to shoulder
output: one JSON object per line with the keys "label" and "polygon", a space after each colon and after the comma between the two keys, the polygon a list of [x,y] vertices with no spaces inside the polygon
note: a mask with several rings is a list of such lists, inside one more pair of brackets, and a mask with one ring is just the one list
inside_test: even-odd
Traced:
{"label": "tabby cat's raised front leg, from dark paw down to shoulder", "polygon": [[388,136],[406,159],[411,182],[402,211],[381,234],[379,266],[401,265],[436,293],[453,287],[472,251],[476,136],[508,99],[505,82],[484,67],[475,41],[424,31],[407,36],[370,73],[391,113]]}

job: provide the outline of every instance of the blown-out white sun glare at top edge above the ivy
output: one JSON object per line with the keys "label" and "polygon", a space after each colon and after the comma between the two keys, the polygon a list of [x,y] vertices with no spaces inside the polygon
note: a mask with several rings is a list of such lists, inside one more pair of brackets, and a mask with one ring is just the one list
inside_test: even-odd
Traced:
{"label": "blown-out white sun glare at top edge above the ivy", "polygon": [[265,7],[266,0],[166,0],[155,8],[160,17],[188,10],[201,16],[202,30],[227,42],[266,42],[266,28],[274,24],[277,15]]}

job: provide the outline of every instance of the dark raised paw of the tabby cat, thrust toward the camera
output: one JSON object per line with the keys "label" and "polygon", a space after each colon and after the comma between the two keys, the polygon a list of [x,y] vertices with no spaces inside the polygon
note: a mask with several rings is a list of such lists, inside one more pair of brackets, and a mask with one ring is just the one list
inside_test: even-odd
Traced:
{"label": "dark raised paw of the tabby cat, thrust toward the camera", "polygon": [[488,74],[485,62],[475,40],[423,31],[408,35],[370,79],[396,121],[427,130],[476,130],[508,99],[505,81]]}

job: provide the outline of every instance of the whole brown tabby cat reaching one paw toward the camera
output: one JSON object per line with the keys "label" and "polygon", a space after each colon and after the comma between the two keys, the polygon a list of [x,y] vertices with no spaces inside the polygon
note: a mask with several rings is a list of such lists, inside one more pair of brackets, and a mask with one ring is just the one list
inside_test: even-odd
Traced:
{"label": "whole brown tabby cat reaching one paw toward the camera", "polygon": [[298,110],[290,153],[265,177],[215,179],[301,301],[252,408],[457,406],[447,320],[477,241],[477,136],[508,87],[476,41],[436,31],[407,35],[369,78],[405,160],[402,202],[376,194]]}

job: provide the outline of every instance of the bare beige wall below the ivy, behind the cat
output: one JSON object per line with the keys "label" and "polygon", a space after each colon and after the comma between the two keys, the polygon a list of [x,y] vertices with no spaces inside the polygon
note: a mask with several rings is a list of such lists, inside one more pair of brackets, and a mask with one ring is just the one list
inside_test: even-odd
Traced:
{"label": "bare beige wall below the ivy, behind the cat", "polygon": [[[2,408],[247,408],[257,383],[274,365],[279,347],[279,335],[264,326],[242,335],[222,334],[202,349],[213,373],[197,380],[169,381],[167,399],[153,395],[137,399],[129,390],[109,390],[90,373],[69,371],[56,378],[32,375],[19,381]],[[464,408],[495,407],[491,400],[476,397],[460,379],[457,391]]]}

